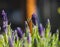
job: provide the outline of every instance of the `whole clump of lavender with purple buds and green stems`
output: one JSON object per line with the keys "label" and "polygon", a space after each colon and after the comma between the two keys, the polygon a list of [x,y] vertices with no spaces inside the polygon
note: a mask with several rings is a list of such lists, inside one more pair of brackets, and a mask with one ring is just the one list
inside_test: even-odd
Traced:
{"label": "whole clump of lavender with purple buds and green stems", "polygon": [[25,21],[25,33],[23,33],[20,27],[12,30],[4,10],[2,10],[2,16],[4,33],[0,34],[0,47],[60,47],[59,30],[57,29],[57,32],[52,35],[49,19],[44,28],[41,23],[37,24],[35,14],[33,14],[34,25],[31,35],[27,21]]}

